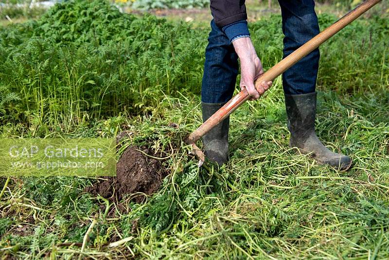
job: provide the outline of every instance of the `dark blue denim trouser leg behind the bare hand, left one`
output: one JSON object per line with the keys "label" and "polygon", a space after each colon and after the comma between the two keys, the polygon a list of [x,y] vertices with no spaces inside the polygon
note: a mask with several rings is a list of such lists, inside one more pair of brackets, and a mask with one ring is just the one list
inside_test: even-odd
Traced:
{"label": "dark blue denim trouser leg behind the bare hand, left one", "polygon": [[214,20],[205,51],[201,101],[205,103],[225,103],[235,89],[238,74],[238,56],[232,43],[220,30]]}

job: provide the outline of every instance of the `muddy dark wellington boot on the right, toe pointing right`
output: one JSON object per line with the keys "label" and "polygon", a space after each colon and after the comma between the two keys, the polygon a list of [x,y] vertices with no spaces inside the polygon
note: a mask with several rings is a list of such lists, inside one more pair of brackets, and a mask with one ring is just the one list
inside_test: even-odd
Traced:
{"label": "muddy dark wellington boot on the right, toe pointing right", "polygon": [[290,131],[290,147],[297,147],[303,154],[312,153],[320,164],[328,164],[339,170],[351,167],[349,156],[327,149],[315,133],[316,93],[286,95],[286,114]]}

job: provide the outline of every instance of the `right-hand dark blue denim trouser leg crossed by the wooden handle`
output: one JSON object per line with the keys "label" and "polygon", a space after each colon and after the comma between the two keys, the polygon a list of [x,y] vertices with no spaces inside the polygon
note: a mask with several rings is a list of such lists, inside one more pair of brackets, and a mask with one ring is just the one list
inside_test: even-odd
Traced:
{"label": "right-hand dark blue denim trouser leg crossed by the wooden handle", "polygon": [[[286,57],[319,33],[314,0],[279,0],[283,18],[283,56]],[[316,49],[283,73],[285,94],[315,92],[319,50]]]}

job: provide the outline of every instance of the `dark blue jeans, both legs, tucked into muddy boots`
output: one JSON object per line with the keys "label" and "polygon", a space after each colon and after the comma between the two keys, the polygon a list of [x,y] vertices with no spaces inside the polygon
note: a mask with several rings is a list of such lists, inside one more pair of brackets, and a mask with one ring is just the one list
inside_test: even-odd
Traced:
{"label": "dark blue jeans, both legs, tucked into muddy boots", "polygon": [[[313,0],[279,0],[283,19],[283,57],[319,33]],[[232,98],[239,70],[238,56],[228,37],[211,21],[205,51],[201,101],[225,103]],[[285,94],[315,92],[319,50],[316,49],[283,73]]]}

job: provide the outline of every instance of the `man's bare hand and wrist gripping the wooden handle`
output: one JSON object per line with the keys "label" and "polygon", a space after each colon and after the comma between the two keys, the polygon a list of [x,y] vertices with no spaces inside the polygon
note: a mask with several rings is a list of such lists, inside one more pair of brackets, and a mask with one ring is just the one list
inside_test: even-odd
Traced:
{"label": "man's bare hand and wrist gripping the wooden handle", "polygon": [[254,80],[256,80],[261,74],[264,74],[264,69],[262,68],[261,60],[255,52],[250,37],[236,39],[232,42],[232,44],[240,59],[240,88],[242,90],[246,88],[248,94],[251,96],[250,100],[255,100],[270,88],[272,82],[263,81],[261,82],[259,89],[255,89]]}

